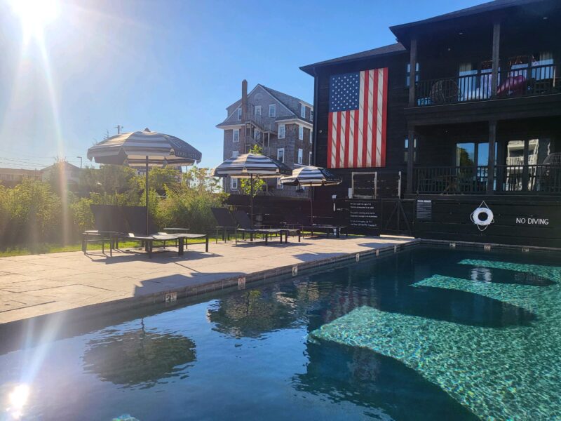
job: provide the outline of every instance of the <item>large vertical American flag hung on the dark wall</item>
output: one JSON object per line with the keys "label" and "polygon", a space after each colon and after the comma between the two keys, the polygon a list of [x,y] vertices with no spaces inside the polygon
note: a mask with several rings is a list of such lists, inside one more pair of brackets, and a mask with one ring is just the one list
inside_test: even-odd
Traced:
{"label": "large vertical American flag hung on the dark wall", "polygon": [[327,168],[386,166],[388,69],[330,79]]}

